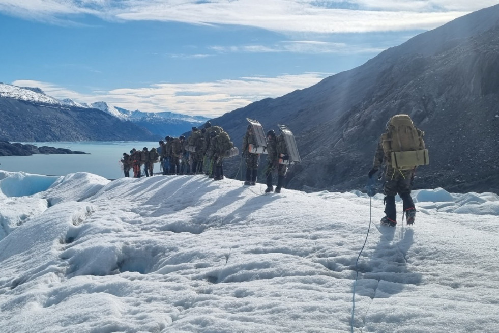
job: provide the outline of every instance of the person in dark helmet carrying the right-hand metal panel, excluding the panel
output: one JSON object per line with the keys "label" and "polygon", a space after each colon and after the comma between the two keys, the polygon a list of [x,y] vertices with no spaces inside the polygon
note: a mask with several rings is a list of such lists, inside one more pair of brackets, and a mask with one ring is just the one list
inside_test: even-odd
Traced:
{"label": "person in dark helmet carrying the right-hand metal panel, excluding the panel", "polygon": [[287,156],[286,143],[282,133],[276,136],[276,132],[273,129],[267,132],[267,152],[268,164],[265,170],[265,175],[267,176],[267,189],[265,192],[269,193],[274,191],[274,187],[272,186],[272,172],[277,169],[277,186],[275,192],[280,193],[281,188],[284,185],[284,176],[287,172],[287,165],[279,163],[281,154]]}

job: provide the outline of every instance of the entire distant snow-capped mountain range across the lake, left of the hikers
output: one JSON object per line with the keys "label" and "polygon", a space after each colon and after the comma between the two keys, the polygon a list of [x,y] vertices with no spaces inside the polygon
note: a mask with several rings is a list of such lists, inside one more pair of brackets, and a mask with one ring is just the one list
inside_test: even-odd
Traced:
{"label": "entire distant snow-capped mountain range across the lake, left of the hikers", "polygon": [[143,113],[58,100],[40,88],[0,82],[0,140],[7,141],[157,141],[202,125],[206,117],[171,112]]}

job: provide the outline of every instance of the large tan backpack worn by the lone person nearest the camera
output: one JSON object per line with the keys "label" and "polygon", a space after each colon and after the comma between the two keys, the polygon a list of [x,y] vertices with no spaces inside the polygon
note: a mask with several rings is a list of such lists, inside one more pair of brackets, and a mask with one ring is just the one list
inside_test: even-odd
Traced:
{"label": "large tan backpack worn by the lone person nearest the camera", "polygon": [[408,115],[390,118],[387,131],[381,135],[385,157],[395,169],[413,169],[428,165],[428,150],[423,141],[424,132],[414,126]]}

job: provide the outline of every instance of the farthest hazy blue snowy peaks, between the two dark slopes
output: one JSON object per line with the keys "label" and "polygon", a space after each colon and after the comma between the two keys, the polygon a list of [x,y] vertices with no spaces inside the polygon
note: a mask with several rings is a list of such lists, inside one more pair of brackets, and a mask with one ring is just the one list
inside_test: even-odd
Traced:
{"label": "farthest hazy blue snowy peaks, between the two dark slopes", "polygon": [[139,110],[129,111],[116,107],[127,120],[150,130],[161,137],[179,136],[182,133],[190,132],[193,126],[201,126],[209,119],[202,116],[188,116],[172,112],[141,112]]}

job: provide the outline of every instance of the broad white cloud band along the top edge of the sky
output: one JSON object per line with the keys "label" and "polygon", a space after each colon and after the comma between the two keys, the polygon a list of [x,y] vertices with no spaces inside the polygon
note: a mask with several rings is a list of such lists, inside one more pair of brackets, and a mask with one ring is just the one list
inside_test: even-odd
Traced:
{"label": "broad white cloud band along the top edge of the sky", "polygon": [[292,33],[433,29],[496,0],[0,0],[0,12],[45,21],[107,20],[237,24]]}

